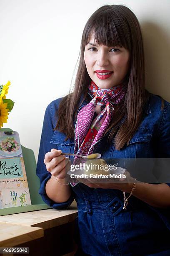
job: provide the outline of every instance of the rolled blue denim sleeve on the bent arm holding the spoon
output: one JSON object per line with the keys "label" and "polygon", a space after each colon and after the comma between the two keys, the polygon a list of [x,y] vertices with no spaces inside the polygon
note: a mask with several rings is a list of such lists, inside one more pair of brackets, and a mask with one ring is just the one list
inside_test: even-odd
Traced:
{"label": "rolled blue denim sleeve on the bent arm holding the spoon", "polygon": [[45,154],[48,151],[51,151],[52,148],[57,149],[56,144],[50,143],[52,135],[54,133],[52,112],[53,111],[52,111],[52,102],[51,102],[45,110],[45,116],[44,116],[44,121],[42,126],[41,139],[40,139],[40,149],[39,149],[38,160],[37,160],[36,174],[40,179],[39,194],[41,195],[42,200],[50,207],[60,210],[60,209],[67,209],[67,207],[69,207],[69,205],[74,200],[74,196],[72,191],[70,198],[66,202],[56,203],[53,200],[51,200],[45,192],[45,186],[47,181],[50,179],[51,174],[46,169],[46,165],[44,163],[44,157],[45,157]]}

